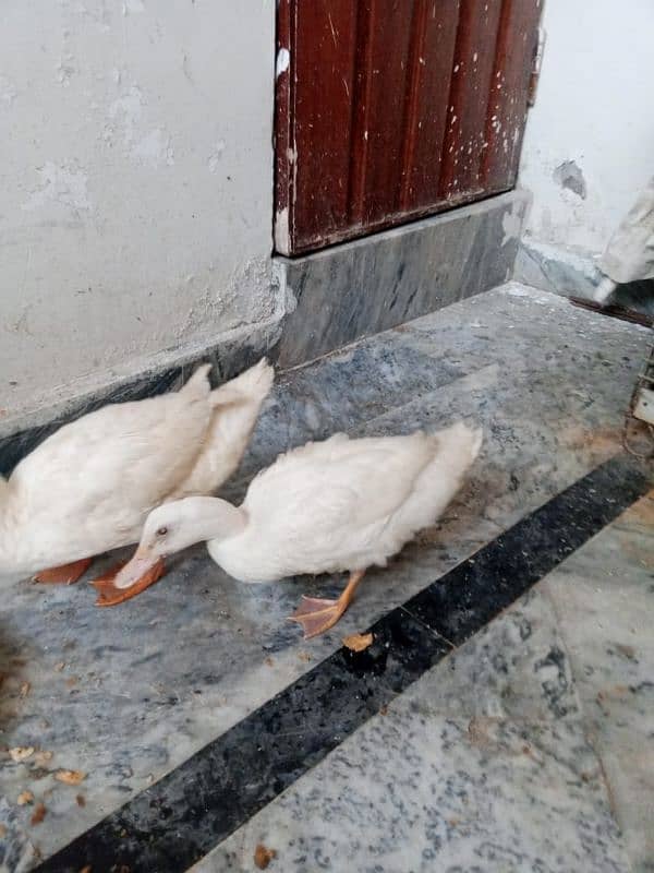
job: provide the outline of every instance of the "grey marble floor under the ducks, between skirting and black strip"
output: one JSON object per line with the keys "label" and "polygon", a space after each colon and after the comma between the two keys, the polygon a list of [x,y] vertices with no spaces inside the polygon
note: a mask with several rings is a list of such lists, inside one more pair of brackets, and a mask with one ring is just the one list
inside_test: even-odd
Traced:
{"label": "grey marble floor under the ducks, between skirting and black strip", "polygon": [[[34,745],[55,757],[35,767],[0,751],[0,779],[10,800],[28,788],[46,803],[38,827],[27,810],[16,812],[45,854],[616,451],[647,334],[562,312],[553,300],[516,286],[492,291],[282,376],[246,476],[289,443],[337,426],[396,433],[469,417],[487,431],[474,475],[440,525],[372,572],[324,637],[304,643],[286,617],[301,591],[329,596],[343,579],[243,586],[202,548],[112,610],[95,609],[84,584],[11,590],[0,603],[1,746]],[[31,687],[22,697],[24,682]],[[71,789],[55,780],[59,767],[88,776]]]}

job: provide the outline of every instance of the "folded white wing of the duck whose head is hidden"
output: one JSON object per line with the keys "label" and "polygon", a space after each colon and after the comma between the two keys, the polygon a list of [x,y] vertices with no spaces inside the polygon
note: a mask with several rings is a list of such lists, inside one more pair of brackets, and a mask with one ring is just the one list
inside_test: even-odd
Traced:
{"label": "folded white wing of the duck whose head is hidden", "polygon": [[170,494],[192,468],[210,418],[208,382],[182,391],[105,406],[61,428],[19,464],[10,483],[38,524],[129,527]]}

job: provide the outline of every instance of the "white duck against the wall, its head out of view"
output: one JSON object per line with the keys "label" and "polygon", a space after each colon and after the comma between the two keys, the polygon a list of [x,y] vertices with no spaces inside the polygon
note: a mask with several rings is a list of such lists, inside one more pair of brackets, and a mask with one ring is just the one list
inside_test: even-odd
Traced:
{"label": "white duck against the wall, its head out of view", "polygon": [[53,567],[37,579],[75,582],[94,555],[138,542],[153,507],[214,492],[243,455],[274,371],[262,360],[211,391],[210,369],[179,392],[65,424],[0,477],[0,575]]}

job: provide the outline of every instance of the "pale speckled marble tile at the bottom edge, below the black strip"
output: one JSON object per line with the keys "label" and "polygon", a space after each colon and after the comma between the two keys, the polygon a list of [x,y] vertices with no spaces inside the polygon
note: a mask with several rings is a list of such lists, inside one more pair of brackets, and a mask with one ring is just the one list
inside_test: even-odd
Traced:
{"label": "pale speckled marble tile at the bottom edge, below the black strip", "polygon": [[[597,758],[572,721],[447,718],[427,674],[195,873],[627,873]],[[438,704],[436,703],[436,706]]]}

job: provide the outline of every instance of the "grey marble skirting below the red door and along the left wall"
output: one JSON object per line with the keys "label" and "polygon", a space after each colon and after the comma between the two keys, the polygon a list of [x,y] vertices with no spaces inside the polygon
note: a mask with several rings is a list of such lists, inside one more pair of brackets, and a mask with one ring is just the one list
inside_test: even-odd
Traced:
{"label": "grey marble skirting below the red door and along the left wall", "polygon": [[513,191],[324,252],[275,259],[280,314],[202,348],[168,350],[172,366],[128,378],[34,414],[0,418],[0,475],[61,424],[107,403],[179,387],[203,361],[215,384],[266,355],[281,368],[314,360],[511,277],[529,194]]}

